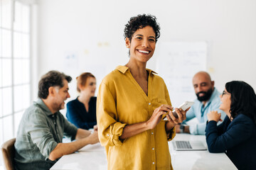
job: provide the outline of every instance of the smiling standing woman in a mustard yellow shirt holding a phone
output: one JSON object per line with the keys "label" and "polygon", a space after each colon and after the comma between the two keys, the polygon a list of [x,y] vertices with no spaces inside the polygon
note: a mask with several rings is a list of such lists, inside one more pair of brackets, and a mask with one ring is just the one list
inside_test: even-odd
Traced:
{"label": "smiling standing woman in a mustard yellow shirt holding a phone", "polygon": [[[146,69],[159,29],[154,16],[130,18],[124,28],[129,62],[100,84],[97,125],[108,169],[172,169],[168,140],[175,136],[175,125],[186,119],[186,111],[176,108],[174,117],[164,80]],[[168,121],[163,120],[166,113]]]}

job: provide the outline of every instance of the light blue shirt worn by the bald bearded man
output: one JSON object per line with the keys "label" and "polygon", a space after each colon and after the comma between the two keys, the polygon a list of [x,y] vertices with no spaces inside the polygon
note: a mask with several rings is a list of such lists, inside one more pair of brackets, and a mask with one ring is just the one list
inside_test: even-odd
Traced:
{"label": "light blue shirt worn by the bald bearded man", "polygon": [[210,96],[210,99],[206,102],[205,106],[203,106],[203,103],[201,101],[198,101],[198,99],[194,101],[195,103],[186,113],[186,120],[183,121],[183,123],[186,124],[188,120],[197,118],[198,123],[189,125],[189,131],[191,132],[192,135],[206,134],[206,122],[208,120],[207,113],[209,113],[210,111],[218,111],[218,113],[221,113],[221,119],[224,120],[226,114],[219,109],[219,96],[220,92],[218,92],[218,90],[214,88],[213,94]]}

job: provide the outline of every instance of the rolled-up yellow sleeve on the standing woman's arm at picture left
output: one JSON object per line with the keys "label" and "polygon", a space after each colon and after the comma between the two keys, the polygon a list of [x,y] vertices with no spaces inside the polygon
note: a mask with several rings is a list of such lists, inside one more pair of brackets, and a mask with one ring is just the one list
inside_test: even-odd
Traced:
{"label": "rolled-up yellow sleeve on the standing woman's arm at picture left", "polygon": [[114,100],[114,91],[102,82],[97,96],[97,127],[102,146],[120,146],[122,140],[119,136],[125,127],[125,123],[117,122],[117,108]]}

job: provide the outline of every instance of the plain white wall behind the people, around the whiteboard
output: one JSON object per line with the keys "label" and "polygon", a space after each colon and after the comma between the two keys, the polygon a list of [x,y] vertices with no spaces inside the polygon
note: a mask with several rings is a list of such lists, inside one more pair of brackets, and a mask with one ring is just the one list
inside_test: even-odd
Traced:
{"label": "plain white wall behind the people, around the whiteboard", "polygon": [[[129,18],[151,13],[161,26],[159,42],[208,42],[207,69],[219,91],[231,80],[256,89],[255,8],[255,0],[39,0],[38,79],[50,69],[73,78],[92,72],[99,85],[102,77],[129,60],[123,37]],[[66,60],[70,55],[75,59]],[[155,69],[156,57],[147,67]],[[70,94],[77,95],[75,80]]]}

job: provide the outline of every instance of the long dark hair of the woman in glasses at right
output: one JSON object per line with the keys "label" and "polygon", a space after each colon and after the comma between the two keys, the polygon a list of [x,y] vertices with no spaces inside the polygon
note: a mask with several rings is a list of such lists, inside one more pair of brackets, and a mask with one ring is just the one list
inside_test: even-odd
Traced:
{"label": "long dark hair of the woman in glasses at right", "polygon": [[252,86],[245,81],[230,81],[225,84],[225,89],[231,94],[230,114],[232,118],[244,114],[256,124],[256,95]]}

